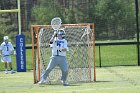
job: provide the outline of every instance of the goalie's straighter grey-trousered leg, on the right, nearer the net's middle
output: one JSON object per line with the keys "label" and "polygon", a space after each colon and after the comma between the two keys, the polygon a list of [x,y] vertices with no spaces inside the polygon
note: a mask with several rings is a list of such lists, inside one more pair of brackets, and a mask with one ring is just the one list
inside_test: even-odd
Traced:
{"label": "goalie's straighter grey-trousered leg, on the right, nearer the net's middle", "polygon": [[68,62],[66,57],[61,57],[61,62],[59,66],[62,71],[62,77],[61,77],[62,83],[63,85],[68,85],[68,83],[66,82],[68,76]]}

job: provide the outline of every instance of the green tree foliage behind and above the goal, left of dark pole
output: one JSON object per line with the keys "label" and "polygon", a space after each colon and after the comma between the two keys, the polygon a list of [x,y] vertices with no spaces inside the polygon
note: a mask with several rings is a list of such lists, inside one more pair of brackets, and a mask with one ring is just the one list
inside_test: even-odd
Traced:
{"label": "green tree foliage behind and above the goal, left of dark pole", "polygon": [[95,23],[96,40],[133,39],[136,33],[134,0],[41,0],[32,24],[50,24],[55,16],[63,23]]}

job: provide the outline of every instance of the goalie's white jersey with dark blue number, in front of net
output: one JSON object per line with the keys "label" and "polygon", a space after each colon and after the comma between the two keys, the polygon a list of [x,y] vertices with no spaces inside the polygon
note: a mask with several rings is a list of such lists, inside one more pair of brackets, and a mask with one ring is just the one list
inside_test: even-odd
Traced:
{"label": "goalie's white jersey with dark blue number, in front of net", "polygon": [[55,39],[52,44],[52,56],[66,56],[66,51],[59,50],[63,48],[66,48],[68,51],[67,40]]}

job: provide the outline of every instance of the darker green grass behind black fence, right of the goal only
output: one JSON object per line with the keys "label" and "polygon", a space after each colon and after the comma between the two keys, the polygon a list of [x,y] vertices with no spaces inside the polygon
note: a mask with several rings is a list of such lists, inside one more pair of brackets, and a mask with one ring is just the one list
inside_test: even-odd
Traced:
{"label": "darker green grass behind black fence, right of the goal only", "polygon": [[[102,66],[137,65],[136,45],[101,46]],[[99,66],[99,47],[96,47],[96,64]]]}

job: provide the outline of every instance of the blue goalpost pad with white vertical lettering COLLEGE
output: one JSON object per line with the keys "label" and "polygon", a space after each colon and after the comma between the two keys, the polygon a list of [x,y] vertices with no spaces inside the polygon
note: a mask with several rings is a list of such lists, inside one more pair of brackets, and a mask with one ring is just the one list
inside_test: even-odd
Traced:
{"label": "blue goalpost pad with white vertical lettering COLLEGE", "polygon": [[26,72],[26,47],[23,34],[16,36],[16,63],[17,72]]}

